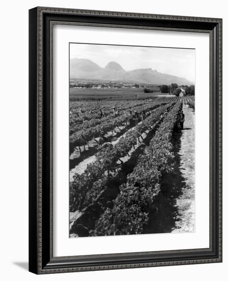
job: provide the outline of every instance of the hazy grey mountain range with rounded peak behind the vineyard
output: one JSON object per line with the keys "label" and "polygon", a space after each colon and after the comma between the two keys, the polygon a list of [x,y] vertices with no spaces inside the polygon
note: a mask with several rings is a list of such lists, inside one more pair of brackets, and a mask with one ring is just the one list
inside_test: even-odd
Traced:
{"label": "hazy grey mountain range with rounded peak behind the vineyard", "polygon": [[104,68],[89,59],[70,59],[71,79],[95,79],[104,81],[136,82],[146,84],[171,84],[190,85],[191,82],[185,78],[159,73],[151,68],[139,68],[125,71],[123,67],[115,62],[109,62]]}

